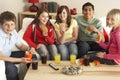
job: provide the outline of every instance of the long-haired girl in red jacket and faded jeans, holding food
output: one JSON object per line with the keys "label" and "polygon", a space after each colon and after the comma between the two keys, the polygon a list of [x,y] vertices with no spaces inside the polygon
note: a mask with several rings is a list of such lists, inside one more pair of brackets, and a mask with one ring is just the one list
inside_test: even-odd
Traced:
{"label": "long-haired girl in red jacket and faded jeans, holding food", "polygon": [[23,39],[34,47],[40,56],[47,55],[54,59],[57,48],[54,45],[54,28],[50,24],[49,14],[46,9],[39,9],[35,19],[26,29]]}

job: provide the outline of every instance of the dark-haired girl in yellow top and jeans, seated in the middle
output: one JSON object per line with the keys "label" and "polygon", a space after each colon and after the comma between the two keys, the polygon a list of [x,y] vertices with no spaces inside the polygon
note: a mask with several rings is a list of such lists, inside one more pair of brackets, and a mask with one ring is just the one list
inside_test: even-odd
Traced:
{"label": "dark-haired girl in yellow top and jeans, seated in the middle", "polygon": [[55,32],[57,48],[62,60],[68,60],[70,54],[78,54],[76,39],[78,35],[77,21],[71,18],[69,8],[62,5],[58,8]]}

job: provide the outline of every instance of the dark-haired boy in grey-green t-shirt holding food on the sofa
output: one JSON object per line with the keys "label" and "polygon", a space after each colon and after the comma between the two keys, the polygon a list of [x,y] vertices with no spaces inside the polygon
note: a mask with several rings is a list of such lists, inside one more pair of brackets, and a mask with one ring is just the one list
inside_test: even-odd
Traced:
{"label": "dark-haired boy in grey-green t-shirt holding food on the sofa", "polygon": [[[88,51],[103,50],[96,42],[96,36],[102,32],[100,20],[93,17],[94,5],[90,2],[82,6],[82,16],[77,16],[78,22],[78,58],[83,57]],[[104,40],[102,37],[101,40]]]}

